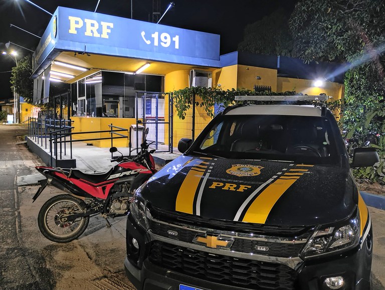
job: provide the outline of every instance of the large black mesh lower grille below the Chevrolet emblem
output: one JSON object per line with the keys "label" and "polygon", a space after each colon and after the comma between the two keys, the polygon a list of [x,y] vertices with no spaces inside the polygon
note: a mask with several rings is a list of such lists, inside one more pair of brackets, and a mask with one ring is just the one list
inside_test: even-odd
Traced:
{"label": "large black mesh lower grille below the Chevrolet emblem", "polygon": [[202,280],[250,289],[295,289],[297,273],[288,266],[212,254],[160,241],[148,259],[168,270]]}

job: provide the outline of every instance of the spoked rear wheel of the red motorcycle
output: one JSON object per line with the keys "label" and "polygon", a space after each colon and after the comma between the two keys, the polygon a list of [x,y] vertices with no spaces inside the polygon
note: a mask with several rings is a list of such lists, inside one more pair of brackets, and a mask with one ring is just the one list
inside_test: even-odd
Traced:
{"label": "spoked rear wheel of the red motorcycle", "polygon": [[54,196],[40,209],[38,225],[42,234],[58,243],[78,238],[87,228],[89,217],[68,221],[66,216],[84,211],[85,203],[68,194]]}

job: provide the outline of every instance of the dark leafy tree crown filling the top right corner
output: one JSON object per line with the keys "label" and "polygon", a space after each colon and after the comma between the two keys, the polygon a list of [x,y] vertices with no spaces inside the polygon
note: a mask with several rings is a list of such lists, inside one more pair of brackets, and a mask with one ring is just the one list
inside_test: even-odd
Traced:
{"label": "dark leafy tree crown filling the top right corner", "polygon": [[384,13],[383,0],[301,0],[289,20],[294,54],[356,63],[367,53],[375,60],[385,40]]}

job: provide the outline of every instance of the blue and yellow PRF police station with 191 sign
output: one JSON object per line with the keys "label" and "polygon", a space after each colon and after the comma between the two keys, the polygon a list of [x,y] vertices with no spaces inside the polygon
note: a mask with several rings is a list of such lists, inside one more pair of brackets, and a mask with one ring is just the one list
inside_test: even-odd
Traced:
{"label": "blue and yellow PRF police station with 191 sign", "polygon": [[[75,131],[106,130],[110,123],[128,128],[139,118],[154,118],[155,111],[157,120],[167,123],[172,108],[167,98],[138,96],[189,86],[269,87],[276,92],[326,93],[335,99],[344,93],[337,64],[306,65],[298,59],[242,52],[220,55],[216,34],[64,7],[55,11],[33,65],[35,103],[52,97],[53,82],[68,84]],[[314,85],[317,79],[326,80],[322,87]],[[158,129],[172,130],[173,137],[163,141],[175,144],[190,136],[190,126],[188,118],[180,120],[174,113],[172,126]],[[108,141],[94,145],[110,146]]]}

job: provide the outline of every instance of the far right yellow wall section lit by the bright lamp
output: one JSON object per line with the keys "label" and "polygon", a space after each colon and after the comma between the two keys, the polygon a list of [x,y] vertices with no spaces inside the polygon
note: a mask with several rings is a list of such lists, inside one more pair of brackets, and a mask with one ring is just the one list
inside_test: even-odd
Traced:
{"label": "far right yellow wall section lit by the bright lamp", "polygon": [[308,95],[319,95],[325,93],[332,96],[334,100],[343,98],[344,85],[325,82],[322,88],[314,87],[312,80],[278,77],[277,92],[296,91]]}

